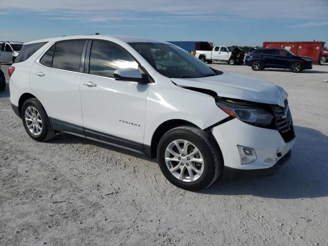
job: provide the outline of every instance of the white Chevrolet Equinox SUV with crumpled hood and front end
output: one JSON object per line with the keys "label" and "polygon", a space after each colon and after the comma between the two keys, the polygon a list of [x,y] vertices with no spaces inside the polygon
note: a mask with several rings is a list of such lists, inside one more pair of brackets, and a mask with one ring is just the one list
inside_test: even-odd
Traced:
{"label": "white Chevrolet Equinox SUV with crumpled hood and front end", "polygon": [[187,190],[207,188],[223,170],[271,173],[295,142],[282,88],[217,71],[166,42],[38,40],[9,74],[12,108],[34,140],[67,132],[157,157]]}

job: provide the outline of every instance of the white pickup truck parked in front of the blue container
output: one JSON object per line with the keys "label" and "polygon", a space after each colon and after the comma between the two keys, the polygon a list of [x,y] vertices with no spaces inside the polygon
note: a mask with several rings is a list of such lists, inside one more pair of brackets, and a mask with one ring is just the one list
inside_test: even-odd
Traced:
{"label": "white pickup truck parked in front of the blue container", "polygon": [[227,46],[214,46],[213,50],[196,50],[195,57],[202,60],[204,63],[212,63],[213,60],[229,61],[231,52]]}

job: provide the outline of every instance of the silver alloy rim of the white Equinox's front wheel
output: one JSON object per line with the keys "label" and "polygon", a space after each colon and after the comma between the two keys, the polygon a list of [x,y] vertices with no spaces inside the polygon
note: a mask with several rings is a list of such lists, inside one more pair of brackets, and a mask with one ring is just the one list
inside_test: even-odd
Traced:
{"label": "silver alloy rim of the white Equinox's front wheel", "polygon": [[203,173],[202,154],[187,140],[172,141],[166,149],[165,161],[169,171],[181,181],[196,181]]}

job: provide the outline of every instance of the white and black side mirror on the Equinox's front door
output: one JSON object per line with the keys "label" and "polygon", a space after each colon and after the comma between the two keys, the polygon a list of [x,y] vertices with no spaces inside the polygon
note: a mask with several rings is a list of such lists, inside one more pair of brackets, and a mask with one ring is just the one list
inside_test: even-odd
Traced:
{"label": "white and black side mirror on the Equinox's front door", "polygon": [[122,68],[114,71],[115,80],[133,81],[140,84],[149,84],[150,78],[148,74],[141,74],[135,68]]}

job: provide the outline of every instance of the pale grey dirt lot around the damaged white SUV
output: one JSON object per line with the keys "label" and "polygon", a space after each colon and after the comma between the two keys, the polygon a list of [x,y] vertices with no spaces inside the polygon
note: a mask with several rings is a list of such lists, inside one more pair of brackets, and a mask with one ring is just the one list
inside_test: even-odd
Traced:
{"label": "pale grey dirt lot around the damaged white SUV", "polygon": [[141,155],[67,134],[33,141],[7,87],[0,93],[0,244],[327,245],[328,64],[300,74],[212,66],[288,91],[297,142],[274,176],[186,192]]}

